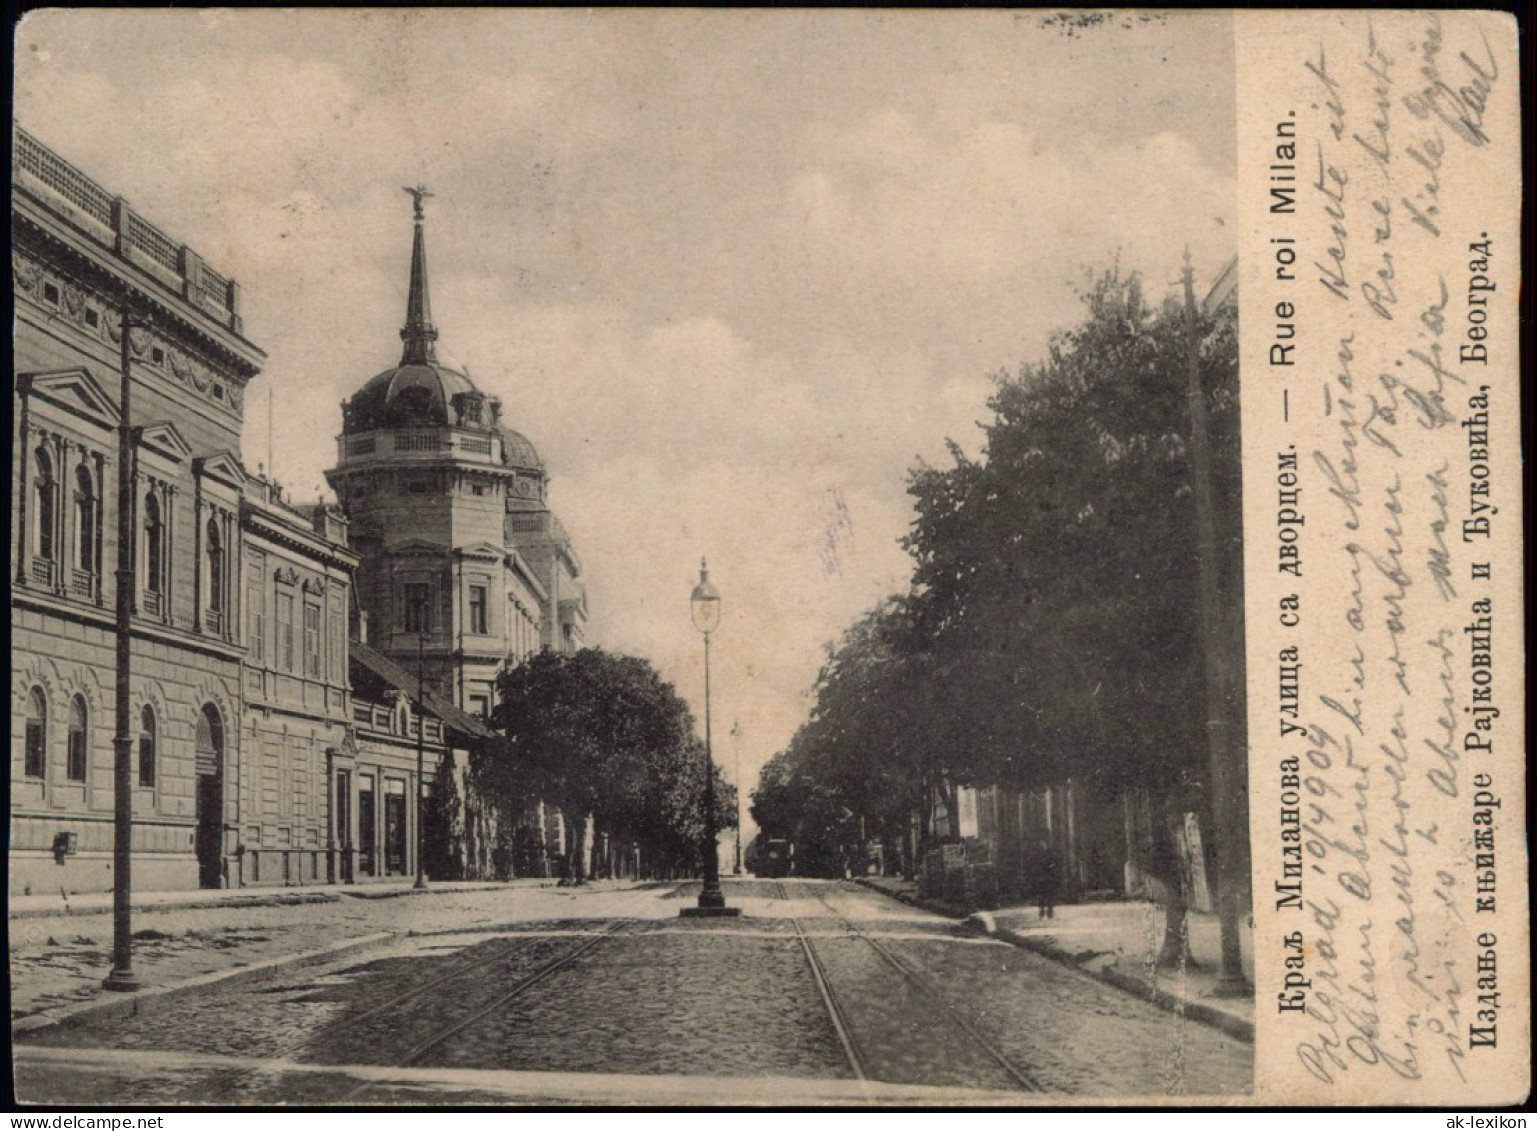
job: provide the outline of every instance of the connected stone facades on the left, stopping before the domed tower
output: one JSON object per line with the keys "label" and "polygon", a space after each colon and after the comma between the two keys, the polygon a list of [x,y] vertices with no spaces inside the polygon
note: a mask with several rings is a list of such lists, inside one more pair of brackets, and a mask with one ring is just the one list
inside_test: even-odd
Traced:
{"label": "connected stone facades on the left, stopping before the domed tower", "polygon": [[413,873],[404,799],[486,731],[415,688],[354,695],[346,518],[238,455],[263,361],[238,286],[20,128],[11,183],[11,890],[112,885],[124,364],[135,888]]}

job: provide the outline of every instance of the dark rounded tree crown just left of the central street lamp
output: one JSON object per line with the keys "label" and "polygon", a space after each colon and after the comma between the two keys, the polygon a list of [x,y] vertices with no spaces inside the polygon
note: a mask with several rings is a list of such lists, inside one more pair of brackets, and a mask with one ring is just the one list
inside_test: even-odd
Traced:
{"label": "dark rounded tree crown just left of the central street lamp", "polygon": [[[541,798],[590,816],[642,856],[696,862],[704,837],[704,750],[693,716],[644,659],[603,648],[541,652],[500,679],[501,731],[481,782],[506,799]],[[715,770],[718,827],[735,824],[735,791]],[[590,847],[570,861],[584,874]]]}

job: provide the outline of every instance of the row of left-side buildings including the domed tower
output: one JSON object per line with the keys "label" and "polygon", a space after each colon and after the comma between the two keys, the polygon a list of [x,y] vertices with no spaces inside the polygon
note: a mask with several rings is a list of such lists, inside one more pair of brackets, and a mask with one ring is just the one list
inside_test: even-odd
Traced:
{"label": "row of left-side buildings including the domed tower", "polygon": [[583,645],[581,566],[533,446],[437,361],[420,198],[404,352],[343,407],[340,506],[241,463],[264,355],[232,280],[20,126],[11,215],[11,890],[112,887],[124,367],[134,887],[410,876],[440,765],[450,871],[549,870],[564,816],[503,814],[469,767],[496,676]]}

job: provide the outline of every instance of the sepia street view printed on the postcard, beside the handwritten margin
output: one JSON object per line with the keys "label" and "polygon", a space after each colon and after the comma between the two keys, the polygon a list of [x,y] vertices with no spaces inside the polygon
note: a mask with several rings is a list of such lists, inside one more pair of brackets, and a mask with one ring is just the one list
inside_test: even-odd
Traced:
{"label": "sepia street view printed on the postcard, beside the handwritten margin", "polygon": [[1254,1096],[1233,14],[14,51],[22,1103]]}

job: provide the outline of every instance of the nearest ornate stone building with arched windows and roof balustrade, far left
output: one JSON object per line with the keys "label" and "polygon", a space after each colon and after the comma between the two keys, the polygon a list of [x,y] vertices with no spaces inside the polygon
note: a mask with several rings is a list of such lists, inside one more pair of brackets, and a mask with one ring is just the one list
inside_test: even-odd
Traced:
{"label": "nearest ornate stone building with arched windows and roof balustrade, far left", "polygon": [[[11,890],[112,884],[117,450],[132,378],[134,881],[221,884],[240,827],[237,284],[12,128]],[[129,330],[124,313],[146,324]]]}

